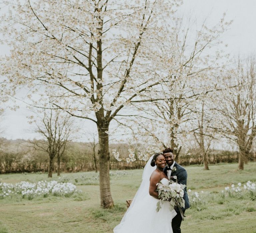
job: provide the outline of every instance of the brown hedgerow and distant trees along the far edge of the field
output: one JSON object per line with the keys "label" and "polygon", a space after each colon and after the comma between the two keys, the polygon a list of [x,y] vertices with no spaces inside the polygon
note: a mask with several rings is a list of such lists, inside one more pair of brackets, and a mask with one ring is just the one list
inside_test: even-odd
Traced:
{"label": "brown hedgerow and distant trees along the far edge of the field", "polygon": [[[28,141],[24,140],[7,140],[2,138],[0,143],[0,173],[10,172],[47,172],[49,156],[47,153],[36,150]],[[95,147],[95,149],[93,149]],[[136,169],[143,168],[146,161],[136,160],[127,163],[118,162],[112,155],[112,149],[118,148],[121,157],[128,157],[128,148],[126,144],[110,145],[110,169]],[[94,153],[95,151],[95,153]],[[178,162],[181,165],[201,164],[203,158],[197,148],[194,148],[193,154],[180,154]],[[138,152],[138,151],[137,151]],[[136,152],[135,152],[136,154]],[[94,155],[96,157],[96,164]],[[61,157],[61,172],[78,172],[78,171],[97,171],[99,166],[97,156],[97,145],[84,142],[70,142],[67,145],[65,153]],[[256,161],[256,154],[249,155],[249,161]],[[225,150],[210,150],[209,163],[220,162],[238,162],[238,152]],[[57,170],[57,161],[55,158],[54,171]]]}

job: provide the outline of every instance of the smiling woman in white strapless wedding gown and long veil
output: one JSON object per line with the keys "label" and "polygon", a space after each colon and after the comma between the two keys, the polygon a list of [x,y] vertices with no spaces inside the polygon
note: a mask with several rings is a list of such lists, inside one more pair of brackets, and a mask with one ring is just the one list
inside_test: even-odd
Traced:
{"label": "smiling woman in white strapless wedding gown and long veil", "polygon": [[156,204],[159,201],[156,192],[159,181],[168,184],[169,180],[163,173],[165,157],[156,153],[150,157],[143,174],[141,185],[126,211],[120,224],[114,228],[114,233],[172,233],[172,218],[176,211],[169,209],[168,201],[164,201],[159,212]]}

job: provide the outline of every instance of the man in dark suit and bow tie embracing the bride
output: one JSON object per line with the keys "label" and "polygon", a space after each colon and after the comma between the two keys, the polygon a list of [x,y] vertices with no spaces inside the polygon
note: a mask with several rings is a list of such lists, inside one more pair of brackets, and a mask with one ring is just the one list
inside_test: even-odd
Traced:
{"label": "man in dark suit and bow tie embracing the bride", "polygon": [[[165,166],[163,171],[165,175],[168,177],[168,179],[176,181],[176,179],[174,179],[173,176],[177,176],[177,183],[187,185],[187,171],[181,165],[174,161],[173,149],[166,148],[163,150],[163,154],[165,156],[167,163],[167,166]],[[188,201],[187,187],[184,188],[183,199],[185,200],[185,208],[181,209],[183,213],[185,213],[185,210],[190,207]],[[182,217],[179,209],[177,208],[175,210],[177,212],[177,215],[172,219],[172,230],[173,233],[180,233]]]}

